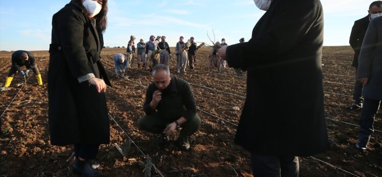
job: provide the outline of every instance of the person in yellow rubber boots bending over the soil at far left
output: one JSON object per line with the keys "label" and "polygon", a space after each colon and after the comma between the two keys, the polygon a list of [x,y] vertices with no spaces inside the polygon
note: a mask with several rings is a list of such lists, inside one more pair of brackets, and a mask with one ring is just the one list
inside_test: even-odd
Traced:
{"label": "person in yellow rubber boots bending over the soil at far left", "polygon": [[[27,71],[23,72],[21,70],[22,66],[27,67]],[[16,72],[20,74],[21,76],[25,76],[29,73],[29,70],[32,69],[33,73],[35,74],[37,78],[38,85],[42,85],[42,79],[40,71],[37,68],[37,65],[35,63],[35,57],[32,55],[31,52],[25,51],[25,50],[17,50],[12,53],[12,66],[9,70],[7,80],[5,82],[5,87],[9,87],[11,85],[11,82],[13,80],[14,75]]]}

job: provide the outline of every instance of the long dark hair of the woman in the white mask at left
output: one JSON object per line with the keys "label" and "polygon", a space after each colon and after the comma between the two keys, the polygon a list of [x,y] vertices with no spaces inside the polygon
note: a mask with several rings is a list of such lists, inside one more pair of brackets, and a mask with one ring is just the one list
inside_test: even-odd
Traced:
{"label": "long dark hair of the woman in the white mask at left", "polygon": [[[73,2],[75,5],[80,7],[83,10],[83,12],[90,18],[90,14],[87,12],[85,7],[82,5],[82,1],[83,0],[71,0],[71,2]],[[96,1],[98,3],[100,3],[100,4],[102,4],[102,9],[101,9],[101,12],[99,14],[97,14],[96,16],[94,16],[93,18],[96,19],[96,26],[97,26],[97,28],[99,30],[101,30],[102,32],[105,32],[106,25],[107,25],[106,14],[107,14],[107,11],[108,11],[107,0],[96,0]]]}

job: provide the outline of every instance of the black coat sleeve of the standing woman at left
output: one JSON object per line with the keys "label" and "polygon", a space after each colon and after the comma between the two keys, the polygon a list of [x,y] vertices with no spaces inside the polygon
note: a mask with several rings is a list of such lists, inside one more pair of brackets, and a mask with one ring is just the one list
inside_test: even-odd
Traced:
{"label": "black coat sleeve of the standing woman at left", "polygon": [[[68,10],[69,11],[69,10]],[[71,10],[57,19],[62,51],[74,78],[93,73],[83,46],[85,17]]]}

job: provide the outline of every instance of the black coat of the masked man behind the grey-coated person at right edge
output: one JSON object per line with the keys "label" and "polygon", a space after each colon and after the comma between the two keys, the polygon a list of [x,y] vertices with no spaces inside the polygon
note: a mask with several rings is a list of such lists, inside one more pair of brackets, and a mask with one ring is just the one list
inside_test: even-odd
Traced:
{"label": "black coat of the masked man behind the grey-coated person at right edge", "polygon": [[367,27],[369,26],[369,15],[354,21],[354,25],[351,28],[349,44],[354,50],[353,63],[351,66],[358,67],[358,58],[360,56],[362,42],[364,41]]}

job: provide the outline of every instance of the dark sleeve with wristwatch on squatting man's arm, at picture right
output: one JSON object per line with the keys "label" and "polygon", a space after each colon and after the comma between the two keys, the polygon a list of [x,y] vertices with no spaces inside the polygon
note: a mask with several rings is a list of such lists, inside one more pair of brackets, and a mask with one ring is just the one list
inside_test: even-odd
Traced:
{"label": "dark sleeve with wristwatch on squatting man's arm, at picture right", "polygon": [[196,114],[196,102],[194,98],[193,91],[191,90],[191,87],[189,86],[189,83],[185,83],[183,86],[183,104],[186,107],[186,111],[182,114],[182,117],[189,121],[192,119]]}

